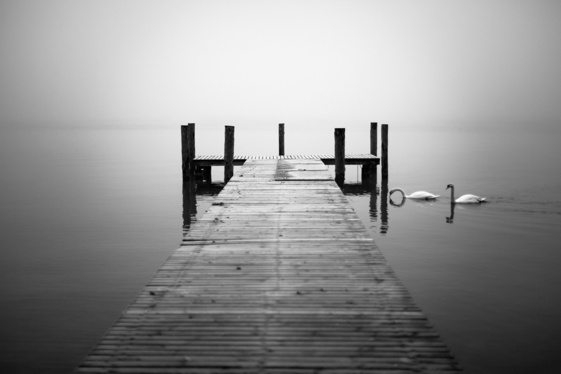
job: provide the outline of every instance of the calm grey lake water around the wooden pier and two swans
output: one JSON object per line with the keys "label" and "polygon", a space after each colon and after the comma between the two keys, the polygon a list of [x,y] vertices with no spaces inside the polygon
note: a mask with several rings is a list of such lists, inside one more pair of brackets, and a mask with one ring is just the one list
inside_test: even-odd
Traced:
{"label": "calm grey lake water around the wooden pier and two swans", "polygon": [[[181,241],[180,131],[0,131],[0,365],[71,373]],[[276,131],[237,126],[236,154],[274,154]],[[287,154],[333,153],[331,127],[286,131]],[[347,153],[369,149],[368,131],[347,128]],[[221,154],[222,134],[197,126],[197,154]],[[347,167],[349,201],[467,373],[558,372],[560,139],[390,125],[387,187],[441,195],[431,202],[385,200],[380,179],[362,186]],[[191,224],[222,173],[197,185]],[[451,208],[448,183],[489,202]]]}

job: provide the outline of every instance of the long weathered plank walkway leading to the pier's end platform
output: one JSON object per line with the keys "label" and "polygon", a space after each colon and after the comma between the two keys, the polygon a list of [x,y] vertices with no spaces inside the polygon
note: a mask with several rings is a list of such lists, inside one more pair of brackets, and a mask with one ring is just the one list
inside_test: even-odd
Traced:
{"label": "long weathered plank walkway leading to the pier's end platform", "polygon": [[319,159],[247,159],[76,373],[458,367]]}

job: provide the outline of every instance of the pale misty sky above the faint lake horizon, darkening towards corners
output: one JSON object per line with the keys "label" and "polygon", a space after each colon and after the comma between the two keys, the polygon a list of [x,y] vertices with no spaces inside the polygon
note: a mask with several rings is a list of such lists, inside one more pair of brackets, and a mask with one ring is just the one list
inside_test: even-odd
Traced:
{"label": "pale misty sky above the faint lake horizon, darkening towards corners", "polygon": [[559,1],[4,1],[0,123],[560,123]]}

